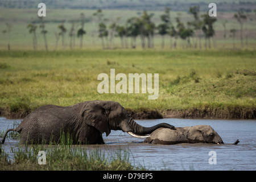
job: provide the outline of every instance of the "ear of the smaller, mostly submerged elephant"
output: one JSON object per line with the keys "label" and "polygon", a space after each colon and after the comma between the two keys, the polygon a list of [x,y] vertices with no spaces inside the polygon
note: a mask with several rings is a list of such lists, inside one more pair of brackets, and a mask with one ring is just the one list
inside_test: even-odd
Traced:
{"label": "ear of the smaller, mostly submerged elephant", "polygon": [[191,129],[188,130],[187,139],[189,143],[205,143],[203,131],[197,126],[192,126]]}

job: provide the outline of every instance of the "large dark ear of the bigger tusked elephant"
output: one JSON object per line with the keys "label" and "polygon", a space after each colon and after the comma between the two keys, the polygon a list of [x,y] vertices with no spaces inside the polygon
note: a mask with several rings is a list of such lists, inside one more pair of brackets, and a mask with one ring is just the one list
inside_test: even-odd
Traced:
{"label": "large dark ear of the bigger tusked elephant", "polygon": [[82,113],[82,118],[87,125],[95,127],[101,133],[105,132],[107,137],[110,134],[108,105],[107,101],[90,102],[84,107]]}

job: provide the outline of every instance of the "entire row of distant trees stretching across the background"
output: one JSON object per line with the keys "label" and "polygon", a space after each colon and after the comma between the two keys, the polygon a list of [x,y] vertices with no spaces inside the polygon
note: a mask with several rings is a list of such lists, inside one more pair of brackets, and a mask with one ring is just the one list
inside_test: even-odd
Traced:
{"label": "entire row of distant trees stretching across the background", "polygon": [[[166,38],[170,40],[170,48],[175,49],[177,47],[177,40],[181,40],[181,46],[183,48],[211,48],[211,40],[215,35],[214,23],[217,21],[217,18],[210,17],[208,13],[200,14],[200,6],[191,6],[189,7],[189,14],[192,15],[193,19],[189,22],[183,22],[181,20],[181,14],[178,13],[175,18],[171,18],[171,9],[166,7],[163,14],[160,15],[161,22],[156,25],[152,21],[154,14],[148,14],[147,11],[143,11],[140,16],[134,16],[126,20],[125,24],[120,24],[120,17],[117,17],[114,20],[109,20],[104,18],[104,14],[101,9],[97,10],[96,13],[92,15],[92,22],[96,24],[96,32],[98,38],[101,40],[102,48],[116,48],[117,45],[114,43],[114,37],[119,37],[121,48],[137,48],[138,39],[141,41],[141,47],[144,48],[154,48],[154,38],[155,35],[160,35],[162,37],[162,49],[165,46]],[[256,16],[256,10],[254,10]],[[249,18],[249,14],[246,14],[243,10],[238,11],[234,14],[234,18],[240,24],[240,39],[241,47],[243,48],[243,31],[244,24],[246,19]],[[38,20],[31,20],[27,24],[28,32],[32,35],[32,47],[34,50],[37,49],[37,36],[36,30],[39,27],[40,33],[43,34],[45,49],[48,50],[47,44],[47,33],[46,26],[44,23],[44,18],[39,17],[40,23],[38,25]],[[62,48],[66,48],[66,34],[68,33],[69,37],[69,48],[72,49],[75,47],[76,37],[80,39],[80,48],[83,46],[85,31],[85,15],[80,14],[79,20],[74,20],[71,22],[71,28],[67,30],[65,27],[64,21],[57,26],[57,31],[55,31],[55,49],[59,45],[59,39],[61,38]],[[224,40],[226,42],[226,23],[222,23],[224,27]],[[10,31],[11,24],[6,23],[6,30],[3,30],[3,33],[8,34],[8,50],[10,50]],[[235,48],[234,38],[236,36],[237,30],[235,28],[230,29],[230,37],[233,38],[233,47]],[[193,43],[191,39],[193,38]],[[248,34],[245,35],[246,39],[246,48],[247,48],[247,38]],[[204,39],[204,44],[203,44]],[[212,41],[214,43],[214,41]],[[225,47],[224,42],[224,47]]]}

